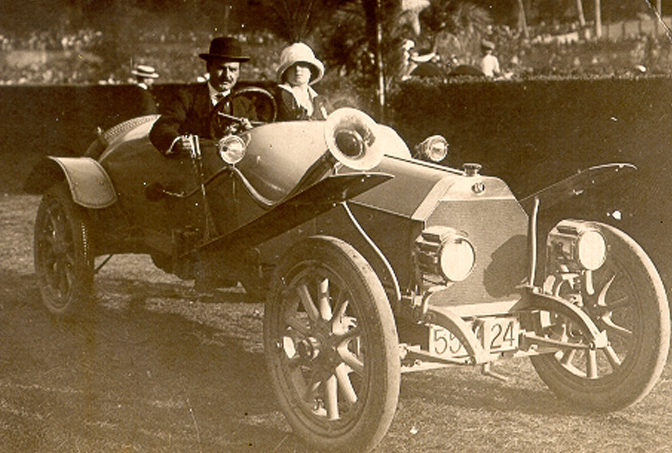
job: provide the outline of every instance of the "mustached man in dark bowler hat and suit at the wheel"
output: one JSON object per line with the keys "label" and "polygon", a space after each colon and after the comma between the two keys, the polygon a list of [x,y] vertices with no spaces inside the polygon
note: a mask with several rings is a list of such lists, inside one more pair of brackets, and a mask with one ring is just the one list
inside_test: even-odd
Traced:
{"label": "mustached man in dark bowler hat and suit at the wheel", "polygon": [[[166,103],[149,133],[154,147],[166,156],[190,150],[187,134],[213,138],[210,136],[210,114],[236,85],[240,64],[250,59],[243,54],[240,42],[232,37],[213,39],[209,52],[201,53],[199,57],[206,62],[208,81],[180,89],[175,98]],[[230,99],[219,111],[247,120],[257,119],[254,105],[243,97]],[[249,121],[244,126],[249,128]]]}

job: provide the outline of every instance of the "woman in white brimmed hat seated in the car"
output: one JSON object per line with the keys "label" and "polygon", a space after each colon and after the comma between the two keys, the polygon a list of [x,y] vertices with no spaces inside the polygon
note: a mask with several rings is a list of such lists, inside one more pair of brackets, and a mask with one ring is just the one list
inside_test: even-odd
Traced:
{"label": "woman in white brimmed hat seated in the car", "polygon": [[297,42],[280,53],[278,121],[323,120],[327,101],[311,87],[324,76],[324,64],[306,44]]}

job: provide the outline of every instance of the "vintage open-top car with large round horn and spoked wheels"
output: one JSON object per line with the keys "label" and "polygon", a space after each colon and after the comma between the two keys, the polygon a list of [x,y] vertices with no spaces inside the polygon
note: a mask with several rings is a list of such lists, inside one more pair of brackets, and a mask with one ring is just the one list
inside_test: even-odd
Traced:
{"label": "vintage open-top car with large round horn and spoked wheels", "polygon": [[[215,275],[264,300],[272,386],[295,433],[329,450],[372,449],[396,410],[402,372],[529,356],[548,387],[597,410],[632,405],[662,372],[669,307],[639,245],[566,219],[537,238],[540,206],[632,169],[591,168],[524,200],[500,179],[440,161],[354,109],[326,121],[238,119],[215,108],[215,139],[166,157],[156,116],[101,133],[83,157],[50,157],[35,269],[54,315],[94,305],[98,256],[144,253],[184,279]],[[39,176],[35,176],[39,175]],[[228,283],[227,283],[228,282]],[[445,383],[444,385],[450,385]]]}

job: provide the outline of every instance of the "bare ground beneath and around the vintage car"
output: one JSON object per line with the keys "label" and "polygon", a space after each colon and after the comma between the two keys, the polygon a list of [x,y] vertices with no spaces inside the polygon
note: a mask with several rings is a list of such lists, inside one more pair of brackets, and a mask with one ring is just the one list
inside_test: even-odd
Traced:
{"label": "bare ground beneath and around the vintage car", "polygon": [[[39,199],[0,194],[0,450],[305,452],[264,368],[263,306],[198,301],[146,257],[115,256],[99,309],[50,318],[32,269]],[[546,389],[525,360],[405,375],[379,451],[670,451],[672,367],[633,408],[595,414]]]}

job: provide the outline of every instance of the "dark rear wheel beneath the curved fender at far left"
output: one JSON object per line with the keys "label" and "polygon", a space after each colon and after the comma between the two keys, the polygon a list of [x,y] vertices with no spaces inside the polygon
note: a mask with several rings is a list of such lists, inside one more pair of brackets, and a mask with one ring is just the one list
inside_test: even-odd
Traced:
{"label": "dark rear wheel beneath the curved fender at far left", "polygon": [[[62,215],[62,221],[57,217]],[[62,234],[67,238],[65,254],[69,257],[65,287],[58,286],[58,271],[53,265],[55,259],[53,243],[45,239],[49,225],[58,222],[63,227]],[[93,243],[90,234],[90,222],[86,211],[75,204],[67,184],[59,182],[52,186],[42,197],[35,220],[33,254],[35,273],[44,306],[53,315],[72,317],[80,314],[92,305],[93,300]],[[63,238],[63,236],[61,236]],[[50,263],[52,265],[50,265]]]}

